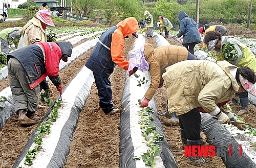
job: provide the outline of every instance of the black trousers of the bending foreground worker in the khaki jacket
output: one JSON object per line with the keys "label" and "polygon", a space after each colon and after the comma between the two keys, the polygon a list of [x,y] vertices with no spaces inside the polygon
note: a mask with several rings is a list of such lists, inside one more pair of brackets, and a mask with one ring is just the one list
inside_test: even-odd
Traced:
{"label": "black trousers of the bending foreground worker in the khaki jacket", "polygon": [[198,140],[201,138],[201,114],[198,108],[194,108],[185,114],[179,115],[179,125],[185,130],[187,139]]}

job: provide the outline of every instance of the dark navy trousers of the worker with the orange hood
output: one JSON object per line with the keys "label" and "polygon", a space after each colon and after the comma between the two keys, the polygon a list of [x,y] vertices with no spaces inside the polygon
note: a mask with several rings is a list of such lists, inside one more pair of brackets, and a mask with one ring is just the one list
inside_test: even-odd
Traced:
{"label": "dark navy trousers of the worker with the orange hood", "polygon": [[100,75],[93,73],[95,84],[98,89],[99,95],[99,107],[102,108],[104,113],[111,112],[113,107],[112,100],[112,88],[110,78],[104,78]]}

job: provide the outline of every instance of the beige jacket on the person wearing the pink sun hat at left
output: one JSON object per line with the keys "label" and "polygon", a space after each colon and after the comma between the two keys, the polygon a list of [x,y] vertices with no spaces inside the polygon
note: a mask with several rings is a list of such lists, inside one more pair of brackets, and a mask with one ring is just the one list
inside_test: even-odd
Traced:
{"label": "beige jacket on the person wearing the pink sun hat at left", "polygon": [[18,49],[34,44],[36,42],[47,42],[46,32],[42,29],[39,19],[33,17],[27,24],[20,30],[20,37]]}

